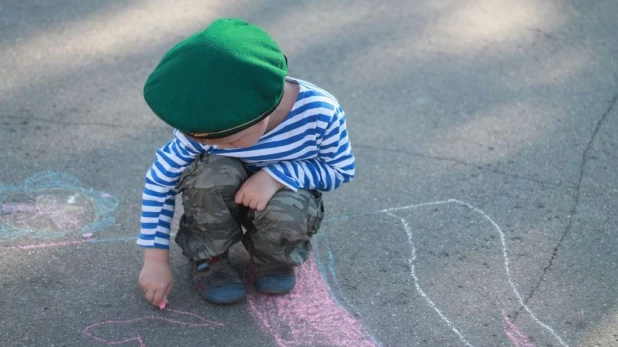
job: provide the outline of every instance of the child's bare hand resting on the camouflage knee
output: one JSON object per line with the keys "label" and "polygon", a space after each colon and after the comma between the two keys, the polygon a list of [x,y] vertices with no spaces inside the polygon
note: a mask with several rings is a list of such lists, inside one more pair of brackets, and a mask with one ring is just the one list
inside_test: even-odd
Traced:
{"label": "child's bare hand resting on the camouflage knee", "polygon": [[249,177],[240,187],[234,201],[254,210],[263,211],[270,199],[285,186],[272,178],[266,171],[260,170]]}

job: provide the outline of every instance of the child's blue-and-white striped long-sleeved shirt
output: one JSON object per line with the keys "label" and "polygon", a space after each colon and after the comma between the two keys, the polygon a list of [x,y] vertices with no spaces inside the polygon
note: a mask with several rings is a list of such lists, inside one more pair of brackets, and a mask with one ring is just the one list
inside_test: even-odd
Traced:
{"label": "child's blue-and-white striped long-sleeved shirt", "polygon": [[354,155],[339,102],[313,84],[290,80],[300,86],[292,110],[251,147],[217,149],[174,130],[174,138],[157,151],[146,174],[138,245],[169,248],[176,184],[202,153],[239,158],[249,172],[265,170],[293,191],[329,191],[354,177]]}

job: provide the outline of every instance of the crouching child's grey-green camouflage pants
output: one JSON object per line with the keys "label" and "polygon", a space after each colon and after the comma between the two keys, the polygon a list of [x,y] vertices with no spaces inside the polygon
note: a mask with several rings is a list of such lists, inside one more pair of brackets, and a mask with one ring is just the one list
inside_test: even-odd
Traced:
{"label": "crouching child's grey-green camouflage pants", "polygon": [[256,211],[234,202],[247,177],[239,159],[210,154],[196,159],[178,186],[185,213],[176,243],[192,260],[222,254],[242,241],[258,264],[302,264],[324,217],[321,194],[282,189],[263,211]]}

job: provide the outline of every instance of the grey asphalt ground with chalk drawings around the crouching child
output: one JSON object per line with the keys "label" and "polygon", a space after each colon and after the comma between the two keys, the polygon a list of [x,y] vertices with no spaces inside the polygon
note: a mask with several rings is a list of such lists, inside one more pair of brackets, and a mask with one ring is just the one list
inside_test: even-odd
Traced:
{"label": "grey asphalt ground with chalk drawings around the crouching child", "polygon": [[[221,16],[339,98],[357,178],[294,300],[207,304],[174,246],[160,311],[141,88]],[[617,38],[612,0],[4,1],[0,345],[618,346]]]}

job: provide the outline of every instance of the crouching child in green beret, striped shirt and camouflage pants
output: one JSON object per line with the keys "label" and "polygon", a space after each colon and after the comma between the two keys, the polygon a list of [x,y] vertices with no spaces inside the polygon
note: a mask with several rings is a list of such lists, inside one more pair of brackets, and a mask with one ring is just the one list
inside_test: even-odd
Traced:
{"label": "crouching child in green beret, striped shirt and camouflage pants", "polygon": [[[287,293],[324,216],[321,193],[354,176],[345,114],[337,100],[287,77],[287,59],[262,29],[219,19],[173,47],[149,76],[144,98],[174,138],[146,175],[139,284],[167,302],[174,195],[184,215],[175,241],[199,293],[213,303],[247,290],[228,249],[242,241],[263,293]],[[243,235],[242,227],[246,229]]]}

